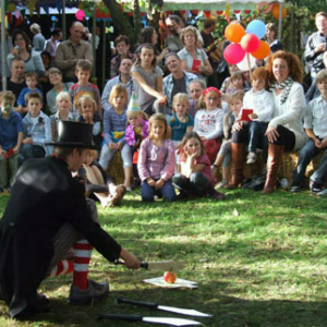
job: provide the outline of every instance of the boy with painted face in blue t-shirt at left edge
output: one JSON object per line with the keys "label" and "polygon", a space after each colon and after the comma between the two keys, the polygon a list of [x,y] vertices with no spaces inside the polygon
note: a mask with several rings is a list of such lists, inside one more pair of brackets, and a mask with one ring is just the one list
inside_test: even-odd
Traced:
{"label": "boy with painted face in blue t-shirt at left edge", "polygon": [[11,90],[0,93],[0,192],[10,189],[19,169],[19,153],[23,142],[21,114],[13,111],[16,97]]}

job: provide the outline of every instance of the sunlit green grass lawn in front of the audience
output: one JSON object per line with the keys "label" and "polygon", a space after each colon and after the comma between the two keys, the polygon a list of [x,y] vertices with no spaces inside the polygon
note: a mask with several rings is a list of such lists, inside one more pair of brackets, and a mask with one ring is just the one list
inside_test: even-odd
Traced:
{"label": "sunlit green grass lawn in front of the audience", "polygon": [[[156,288],[143,279],[164,271],[126,270],[95,252],[89,277],[110,282],[106,300],[72,307],[66,300],[71,276],[51,278],[40,289],[51,301],[50,313],[12,322],[1,302],[0,326],[150,326],[96,319],[98,313],[121,313],[194,318],[214,327],[326,327],[326,199],[310,192],[225,193],[223,202],[143,204],[133,192],[120,207],[98,207],[101,225],[124,247],[142,261],[183,262],[179,277],[197,281],[198,289]],[[1,211],[7,199],[0,198]],[[196,308],[214,317],[117,304],[117,298]]]}

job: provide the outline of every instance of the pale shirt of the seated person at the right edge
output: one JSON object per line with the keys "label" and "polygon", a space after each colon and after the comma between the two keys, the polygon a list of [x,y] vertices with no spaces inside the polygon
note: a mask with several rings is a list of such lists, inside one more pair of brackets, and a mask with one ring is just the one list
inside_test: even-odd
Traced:
{"label": "pale shirt of the seated person at the right edge", "polygon": [[322,96],[308,102],[304,129],[313,130],[319,138],[327,137],[327,101]]}

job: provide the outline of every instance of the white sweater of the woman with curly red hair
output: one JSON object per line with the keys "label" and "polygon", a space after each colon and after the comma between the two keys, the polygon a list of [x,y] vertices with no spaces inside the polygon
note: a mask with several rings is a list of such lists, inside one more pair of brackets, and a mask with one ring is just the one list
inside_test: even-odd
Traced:
{"label": "white sweater of the woman with curly red hair", "polygon": [[306,111],[306,102],[304,97],[303,87],[300,83],[294,82],[288,99],[284,104],[280,105],[282,93],[278,96],[275,90],[272,92],[272,98],[275,102],[272,119],[269,122],[269,126],[277,129],[278,125],[282,125],[295,134],[294,149],[301,148],[307,141],[307,136],[304,132],[302,120]]}

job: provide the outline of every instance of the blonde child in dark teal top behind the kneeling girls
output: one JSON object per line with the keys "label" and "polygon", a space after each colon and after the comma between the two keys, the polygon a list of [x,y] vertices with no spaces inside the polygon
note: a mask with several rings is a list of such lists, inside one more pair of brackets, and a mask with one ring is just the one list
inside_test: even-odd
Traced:
{"label": "blonde child in dark teal top behind the kneeling girls", "polygon": [[[193,130],[194,120],[189,113],[189,96],[185,93],[178,93],[172,99],[172,111],[173,114],[169,119],[168,124],[171,128],[171,140],[174,148],[179,152],[180,144],[186,132]],[[179,155],[175,156],[178,171],[180,171]]]}

